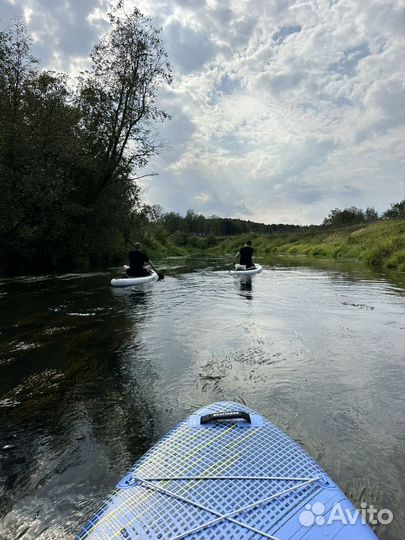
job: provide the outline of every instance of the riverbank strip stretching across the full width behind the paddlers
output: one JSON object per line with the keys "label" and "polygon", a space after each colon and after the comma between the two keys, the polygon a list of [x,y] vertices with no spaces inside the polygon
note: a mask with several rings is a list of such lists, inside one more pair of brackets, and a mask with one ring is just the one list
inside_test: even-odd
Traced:
{"label": "riverbank strip stretching across the full width behind the paddlers", "polygon": [[[162,228],[145,227],[143,230],[138,229],[136,234],[134,232],[132,237],[142,242],[153,261],[193,255],[227,255],[231,260],[231,256],[250,238],[258,256],[307,255],[320,259],[351,259],[363,261],[376,269],[405,271],[405,222],[399,219],[341,228],[309,226],[289,232],[231,236],[196,235],[184,231],[170,234]],[[77,255],[69,263],[55,263],[50,268],[25,267],[25,272],[22,272],[18,266],[13,271],[0,271],[0,275],[13,277],[22,274],[89,272],[127,262],[128,251],[132,249],[130,244],[118,237],[108,247],[107,253],[100,248],[98,257]]]}

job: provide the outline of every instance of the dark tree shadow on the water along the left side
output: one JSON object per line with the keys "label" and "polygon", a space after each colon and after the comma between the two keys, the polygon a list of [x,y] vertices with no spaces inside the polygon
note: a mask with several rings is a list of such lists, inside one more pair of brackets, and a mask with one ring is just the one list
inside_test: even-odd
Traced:
{"label": "dark tree shadow on the water along the left side", "polygon": [[[0,538],[73,537],[60,523],[80,516],[77,528],[154,439],[143,387],[153,374],[145,363],[129,379],[121,361],[123,339],[136,342],[144,324],[148,291],[117,298],[103,277],[65,284],[62,295],[54,281],[3,289]],[[61,489],[64,503],[50,508]]]}

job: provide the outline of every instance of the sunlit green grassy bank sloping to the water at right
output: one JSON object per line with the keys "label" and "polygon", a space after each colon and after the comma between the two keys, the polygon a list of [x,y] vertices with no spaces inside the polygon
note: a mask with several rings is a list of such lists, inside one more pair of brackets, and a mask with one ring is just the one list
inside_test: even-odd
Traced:
{"label": "sunlit green grassy bank sloping to the water at right", "polygon": [[[245,236],[221,240],[212,254],[236,251]],[[314,227],[292,233],[252,235],[257,253],[359,259],[380,268],[405,271],[405,223],[377,221],[340,229]]]}

